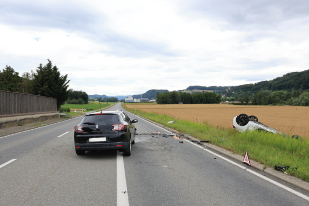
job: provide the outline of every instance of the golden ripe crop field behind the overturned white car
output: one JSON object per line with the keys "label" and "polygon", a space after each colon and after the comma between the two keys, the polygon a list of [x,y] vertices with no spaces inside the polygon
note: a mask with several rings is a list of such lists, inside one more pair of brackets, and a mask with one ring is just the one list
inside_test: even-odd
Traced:
{"label": "golden ripe crop field behind the overturned white car", "polygon": [[245,106],[226,104],[126,104],[158,115],[179,120],[207,122],[215,127],[232,128],[233,118],[239,114],[254,115],[265,125],[289,135],[307,137],[309,134],[309,107],[301,106]]}

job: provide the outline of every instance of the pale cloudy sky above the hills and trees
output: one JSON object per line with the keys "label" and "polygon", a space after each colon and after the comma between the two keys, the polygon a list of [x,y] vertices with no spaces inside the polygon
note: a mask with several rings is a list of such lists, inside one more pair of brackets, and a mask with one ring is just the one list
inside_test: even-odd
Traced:
{"label": "pale cloudy sky above the hills and trees", "polygon": [[47,59],[87,94],[237,86],[309,69],[307,0],[0,0],[0,69]]}

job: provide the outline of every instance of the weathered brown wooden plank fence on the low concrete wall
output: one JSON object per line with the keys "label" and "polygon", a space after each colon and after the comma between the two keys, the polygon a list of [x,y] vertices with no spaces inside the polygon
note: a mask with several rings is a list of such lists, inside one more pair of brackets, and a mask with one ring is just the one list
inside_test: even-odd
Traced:
{"label": "weathered brown wooden plank fence on the low concrete wall", "polygon": [[0,115],[15,116],[39,112],[57,112],[57,99],[0,90]]}

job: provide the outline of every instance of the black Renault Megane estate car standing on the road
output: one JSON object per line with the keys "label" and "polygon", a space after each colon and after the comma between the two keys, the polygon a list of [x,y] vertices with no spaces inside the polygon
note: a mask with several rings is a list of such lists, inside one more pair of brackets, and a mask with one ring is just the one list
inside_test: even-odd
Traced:
{"label": "black Renault Megane estate car standing on the road", "polygon": [[137,120],[130,120],[123,111],[104,111],[85,115],[74,127],[75,151],[83,155],[87,150],[117,149],[131,155],[135,143]]}

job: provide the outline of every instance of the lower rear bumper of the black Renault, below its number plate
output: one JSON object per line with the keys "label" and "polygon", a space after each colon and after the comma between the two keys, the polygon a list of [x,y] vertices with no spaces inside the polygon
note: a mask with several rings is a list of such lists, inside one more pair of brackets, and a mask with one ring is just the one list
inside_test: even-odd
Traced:
{"label": "lower rear bumper of the black Renault, below its number plate", "polygon": [[75,144],[76,150],[108,150],[108,149],[126,149],[129,142],[108,142],[108,143],[85,143]]}

